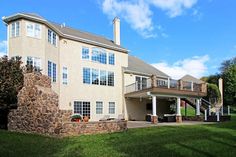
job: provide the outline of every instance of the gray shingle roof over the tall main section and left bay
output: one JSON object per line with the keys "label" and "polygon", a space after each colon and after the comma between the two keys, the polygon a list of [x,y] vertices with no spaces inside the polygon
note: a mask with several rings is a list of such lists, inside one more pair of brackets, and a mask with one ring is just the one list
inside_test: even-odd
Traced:
{"label": "gray shingle roof over the tall main section and left bay", "polygon": [[34,13],[17,13],[12,16],[5,17],[3,19],[4,22],[8,23],[12,20],[16,20],[18,18],[27,18],[35,21],[40,21],[41,23],[44,23],[48,26],[51,26],[53,29],[56,29],[55,31],[59,33],[59,35],[73,39],[78,40],[85,43],[90,43],[93,45],[99,45],[101,47],[110,48],[118,51],[122,51],[127,53],[128,50],[121,47],[120,45],[115,44],[112,40],[109,40],[105,37],[94,35],[92,33],[83,32],[78,29],[70,28],[70,27],[62,27],[60,24],[56,24],[54,22],[49,22],[45,18],[43,18],[40,15],[34,14]]}

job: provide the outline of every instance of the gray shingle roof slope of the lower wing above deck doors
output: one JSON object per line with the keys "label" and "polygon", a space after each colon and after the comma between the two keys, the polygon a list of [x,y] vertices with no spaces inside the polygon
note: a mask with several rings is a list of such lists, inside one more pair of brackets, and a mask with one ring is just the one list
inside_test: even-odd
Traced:
{"label": "gray shingle roof slope of the lower wing above deck doors", "polygon": [[157,75],[165,78],[169,77],[167,74],[156,69],[152,65],[145,63],[143,60],[130,55],[128,60],[128,68],[126,68],[125,71],[137,74]]}

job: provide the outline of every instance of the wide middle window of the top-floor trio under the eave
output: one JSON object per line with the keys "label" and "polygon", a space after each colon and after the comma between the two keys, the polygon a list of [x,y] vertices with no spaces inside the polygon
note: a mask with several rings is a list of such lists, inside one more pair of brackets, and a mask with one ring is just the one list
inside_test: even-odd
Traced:
{"label": "wide middle window of the top-floor trio under the eave", "polygon": [[93,48],[92,61],[107,64],[107,53],[104,50]]}

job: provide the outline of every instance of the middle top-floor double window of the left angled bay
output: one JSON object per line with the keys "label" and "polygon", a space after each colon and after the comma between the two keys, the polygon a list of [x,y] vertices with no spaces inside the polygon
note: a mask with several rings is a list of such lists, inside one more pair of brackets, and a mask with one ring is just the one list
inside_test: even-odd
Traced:
{"label": "middle top-floor double window of the left angled bay", "polygon": [[27,36],[41,38],[41,25],[38,23],[27,22],[26,32]]}

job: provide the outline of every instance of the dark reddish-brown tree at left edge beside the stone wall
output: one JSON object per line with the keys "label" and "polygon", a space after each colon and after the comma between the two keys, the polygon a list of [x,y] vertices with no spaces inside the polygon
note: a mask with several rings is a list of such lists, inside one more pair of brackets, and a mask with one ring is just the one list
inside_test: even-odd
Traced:
{"label": "dark reddish-brown tree at left edge beside the stone wall", "polygon": [[0,109],[9,109],[17,104],[17,94],[23,86],[21,57],[0,58]]}

